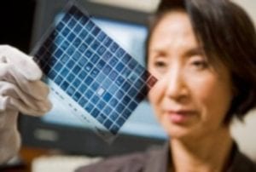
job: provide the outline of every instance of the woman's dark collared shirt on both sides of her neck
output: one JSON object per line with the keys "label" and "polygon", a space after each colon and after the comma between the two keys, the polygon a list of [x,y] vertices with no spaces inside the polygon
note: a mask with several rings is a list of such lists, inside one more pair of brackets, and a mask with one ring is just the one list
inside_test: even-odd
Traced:
{"label": "woman's dark collared shirt on both sides of her neck", "polygon": [[[169,155],[170,149],[166,144],[160,149],[107,158],[81,167],[76,172],[167,172],[171,161]],[[226,172],[256,172],[256,163],[239,152],[235,144]]]}

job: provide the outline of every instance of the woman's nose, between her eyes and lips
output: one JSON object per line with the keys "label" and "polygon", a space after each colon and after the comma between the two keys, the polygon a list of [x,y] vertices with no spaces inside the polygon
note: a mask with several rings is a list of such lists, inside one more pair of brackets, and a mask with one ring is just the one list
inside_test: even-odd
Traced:
{"label": "woman's nose, between her eyes and lips", "polygon": [[183,70],[180,67],[172,67],[166,73],[166,95],[175,101],[187,100],[189,89]]}

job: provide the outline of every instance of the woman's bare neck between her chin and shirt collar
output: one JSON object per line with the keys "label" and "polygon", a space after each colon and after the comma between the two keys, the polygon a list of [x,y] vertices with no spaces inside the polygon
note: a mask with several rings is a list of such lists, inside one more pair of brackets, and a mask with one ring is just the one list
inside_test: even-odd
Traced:
{"label": "woman's bare neck between her chin and shirt collar", "polygon": [[212,172],[227,168],[232,139],[229,129],[221,129],[200,139],[173,138],[170,144],[176,172]]}

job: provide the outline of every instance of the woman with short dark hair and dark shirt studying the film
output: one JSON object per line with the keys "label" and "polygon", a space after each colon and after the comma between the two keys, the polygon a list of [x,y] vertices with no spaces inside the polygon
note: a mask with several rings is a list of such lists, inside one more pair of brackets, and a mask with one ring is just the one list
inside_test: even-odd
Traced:
{"label": "woman with short dark hair and dark shirt studying the film", "polygon": [[163,0],[148,36],[148,100],[170,140],[162,150],[110,158],[78,171],[256,171],[230,120],[256,102],[256,35],[227,0]]}

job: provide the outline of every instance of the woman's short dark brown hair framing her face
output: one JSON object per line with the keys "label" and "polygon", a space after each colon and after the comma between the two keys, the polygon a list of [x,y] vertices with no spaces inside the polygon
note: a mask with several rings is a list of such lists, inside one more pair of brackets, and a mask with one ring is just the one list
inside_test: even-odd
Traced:
{"label": "woman's short dark brown hair framing her face", "polygon": [[224,122],[230,123],[235,115],[243,118],[256,106],[256,33],[252,20],[229,0],[162,0],[151,21],[147,55],[154,27],[166,13],[178,9],[189,15],[195,37],[214,69],[218,71],[214,61],[220,61],[230,70],[236,95]]}

